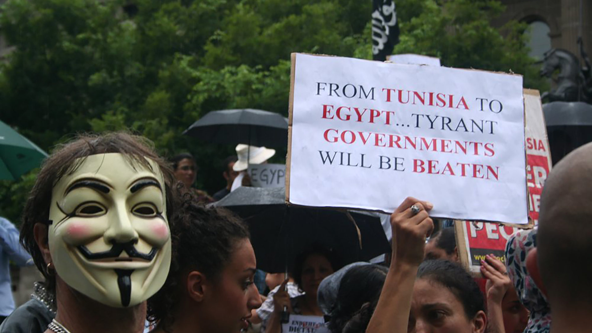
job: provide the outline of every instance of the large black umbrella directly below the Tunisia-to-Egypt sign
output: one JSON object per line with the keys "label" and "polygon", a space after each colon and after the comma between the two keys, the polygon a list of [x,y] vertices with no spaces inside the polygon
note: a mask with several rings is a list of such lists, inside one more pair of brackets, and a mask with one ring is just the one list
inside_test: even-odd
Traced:
{"label": "large black umbrella directly below the Tunisia-to-Egypt sign", "polygon": [[239,187],[213,206],[226,207],[248,223],[257,266],[268,273],[284,272],[296,255],[313,244],[332,249],[342,264],[390,251],[379,217],[288,206],[283,187]]}

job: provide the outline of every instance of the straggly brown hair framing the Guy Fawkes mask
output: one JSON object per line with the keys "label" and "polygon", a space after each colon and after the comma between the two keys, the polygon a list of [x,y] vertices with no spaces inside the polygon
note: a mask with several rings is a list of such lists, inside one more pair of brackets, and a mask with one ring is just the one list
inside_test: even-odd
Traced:
{"label": "straggly brown hair framing the Guy Fawkes mask", "polygon": [[175,212],[175,194],[171,188],[173,173],[168,163],[156,154],[150,140],[127,132],[113,132],[102,135],[79,135],[69,143],[57,146],[56,151],[41,165],[37,180],[27,198],[22,212],[20,235],[22,246],[31,254],[38,270],[45,277],[46,288],[50,294],[54,293],[55,276],[48,274],[46,270],[46,262],[35,242],[33,228],[36,223],[49,221],[54,185],[65,175],[75,172],[86,157],[102,153],[122,153],[134,168],[141,165],[152,169],[146,158],[156,162],[165,180],[166,214],[169,219],[169,228],[173,229],[170,225],[170,216]]}

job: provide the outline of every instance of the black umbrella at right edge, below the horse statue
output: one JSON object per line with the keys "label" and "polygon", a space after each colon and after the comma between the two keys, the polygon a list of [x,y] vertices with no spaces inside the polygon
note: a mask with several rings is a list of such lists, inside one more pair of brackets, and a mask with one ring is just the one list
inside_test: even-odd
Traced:
{"label": "black umbrella at right edge, below the horse statue", "polygon": [[592,142],[592,105],[551,102],[543,104],[543,114],[553,164],[579,146]]}

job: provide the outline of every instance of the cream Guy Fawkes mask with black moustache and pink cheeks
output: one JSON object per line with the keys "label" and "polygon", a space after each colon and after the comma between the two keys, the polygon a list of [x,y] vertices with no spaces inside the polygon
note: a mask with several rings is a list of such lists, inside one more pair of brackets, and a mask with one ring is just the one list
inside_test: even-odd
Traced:
{"label": "cream Guy Fawkes mask with black moustache and pink cheeks", "polygon": [[166,193],[158,165],[91,155],[54,186],[49,249],[57,274],[91,299],[137,305],[162,287],[170,265]]}

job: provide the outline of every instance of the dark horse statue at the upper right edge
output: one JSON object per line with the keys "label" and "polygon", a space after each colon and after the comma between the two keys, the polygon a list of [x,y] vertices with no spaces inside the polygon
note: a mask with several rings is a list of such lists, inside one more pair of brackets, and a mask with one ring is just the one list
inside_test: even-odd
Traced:
{"label": "dark horse statue at the upper right edge", "polygon": [[[584,59],[587,60],[587,56]],[[542,62],[540,76],[552,78],[557,86],[551,91],[543,92],[540,96],[541,99],[548,98],[549,102],[583,101],[588,103],[588,101],[592,101],[592,89],[589,87],[590,80],[586,77],[589,69],[581,69],[580,60],[575,55],[564,49],[551,49],[545,52]],[[553,74],[557,69],[559,74],[556,78],[553,78]]]}

